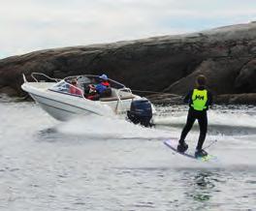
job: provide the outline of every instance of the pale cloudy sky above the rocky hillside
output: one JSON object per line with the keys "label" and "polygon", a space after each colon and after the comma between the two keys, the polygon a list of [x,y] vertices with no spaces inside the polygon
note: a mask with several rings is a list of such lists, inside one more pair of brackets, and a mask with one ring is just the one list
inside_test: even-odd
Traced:
{"label": "pale cloudy sky above the rocky hillside", "polygon": [[256,20],[255,0],[0,0],[0,58]]}

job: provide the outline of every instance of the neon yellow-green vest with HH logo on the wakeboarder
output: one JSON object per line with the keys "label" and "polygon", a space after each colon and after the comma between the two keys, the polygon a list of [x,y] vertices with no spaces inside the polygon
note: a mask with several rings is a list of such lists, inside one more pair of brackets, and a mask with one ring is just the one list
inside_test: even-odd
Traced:
{"label": "neon yellow-green vest with HH logo on the wakeboarder", "polygon": [[194,89],[193,94],[192,94],[192,104],[191,106],[195,110],[204,110],[207,108],[206,104],[208,101],[208,90],[199,90],[199,89]]}

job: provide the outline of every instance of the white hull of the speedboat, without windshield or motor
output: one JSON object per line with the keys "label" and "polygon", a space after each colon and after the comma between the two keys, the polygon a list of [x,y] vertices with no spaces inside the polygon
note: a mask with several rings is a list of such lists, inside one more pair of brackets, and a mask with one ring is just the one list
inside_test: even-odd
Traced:
{"label": "white hull of the speedboat, without windshield or motor", "polygon": [[[43,86],[43,85],[42,85]],[[126,114],[130,108],[131,100],[124,100],[121,103],[90,101],[84,98],[60,94],[48,90],[48,87],[35,87],[29,82],[22,84],[22,89],[37,102],[49,115],[60,121],[67,121],[80,115],[96,114],[100,116],[114,116]]]}

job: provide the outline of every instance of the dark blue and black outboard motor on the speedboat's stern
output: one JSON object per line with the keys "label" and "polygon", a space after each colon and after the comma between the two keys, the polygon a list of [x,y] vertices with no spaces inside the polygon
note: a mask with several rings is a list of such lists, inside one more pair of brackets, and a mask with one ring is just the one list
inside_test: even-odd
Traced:
{"label": "dark blue and black outboard motor on the speedboat's stern", "polygon": [[151,127],[152,107],[147,99],[136,100],[131,104],[130,110],[127,111],[127,117],[134,124],[141,124],[144,127]]}

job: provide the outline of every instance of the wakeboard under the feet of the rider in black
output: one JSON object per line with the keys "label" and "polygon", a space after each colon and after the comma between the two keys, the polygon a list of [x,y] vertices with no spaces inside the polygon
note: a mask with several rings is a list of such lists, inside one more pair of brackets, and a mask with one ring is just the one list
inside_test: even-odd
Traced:
{"label": "wakeboard under the feet of the rider in black", "polygon": [[185,152],[178,152],[176,150],[176,147],[178,145],[178,140],[177,139],[168,139],[168,140],[165,140],[164,143],[169,148],[171,148],[175,153],[183,155],[187,158],[199,160],[199,161],[202,161],[202,162],[208,162],[208,161],[211,161],[211,160],[216,160],[216,156],[209,155],[209,154],[207,156],[204,156],[204,157],[195,157],[195,151],[192,151],[192,150],[189,150],[189,149]]}

